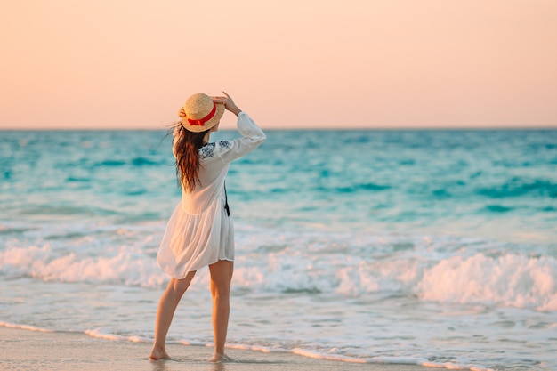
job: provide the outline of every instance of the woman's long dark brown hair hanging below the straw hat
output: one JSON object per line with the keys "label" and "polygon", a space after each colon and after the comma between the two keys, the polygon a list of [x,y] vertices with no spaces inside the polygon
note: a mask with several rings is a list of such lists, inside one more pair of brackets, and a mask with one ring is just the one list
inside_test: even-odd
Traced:
{"label": "woman's long dark brown hair hanging below the straw hat", "polygon": [[174,136],[173,146],[176,154],[176,178],[178,184],[186,190],[195,190],[199,181],[199,149],[204,146],[203,137],[208,132],[193,133],[180,123],[176,125],[178,133]]}

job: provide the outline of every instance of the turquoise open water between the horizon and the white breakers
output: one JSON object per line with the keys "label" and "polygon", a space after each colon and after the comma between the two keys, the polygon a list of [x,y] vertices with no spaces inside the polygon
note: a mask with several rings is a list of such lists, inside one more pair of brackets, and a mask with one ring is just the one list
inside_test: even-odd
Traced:
{"label": "turquoise open water between the horizon and the white breakers", "polygon": [[[158,220],[179,197],[164,133],[2,136],[4,221]],[[231,168],[230,198],[238,216],[270,225],[553,245],[556,142],[556,131],[270,132]]]}

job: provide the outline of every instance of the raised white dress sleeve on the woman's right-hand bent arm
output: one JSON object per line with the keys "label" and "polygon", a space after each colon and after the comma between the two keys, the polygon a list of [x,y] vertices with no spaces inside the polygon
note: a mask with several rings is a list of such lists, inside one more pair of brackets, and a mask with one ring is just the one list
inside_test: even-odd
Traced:
{"label": "raised white dress sleeve on the woman's right-hand bent arm", "polygon": [[230,162],[246,155],[246,153],[259,147],[267,138],[265,133],[245,112],[239,113],[237,125],[242,137],[234,141],[222,141],[219,143],[219,147],[222,149],[219,150],[219,156],[224,162]]}

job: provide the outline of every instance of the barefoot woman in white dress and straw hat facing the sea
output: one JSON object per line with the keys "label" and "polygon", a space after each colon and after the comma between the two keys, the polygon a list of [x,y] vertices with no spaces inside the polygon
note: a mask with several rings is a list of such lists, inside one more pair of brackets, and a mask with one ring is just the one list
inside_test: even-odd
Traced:
{"label": "barefoot woman in white dress and straw hat facing the sea", "polygon": [[[224,343],[230,313],[230,282],[234,268],[234,230],[230,219],[224,179],[230,161],[256,149],[265,134],[232,101],[224,97],[192,95],[180,109],[174,130],[176,173],[182,185],[182,202],[166,225],[157,264],[171,279],[157,309],[155,343],[149,359],[170,358],[165,351],[166,334],[182,294],[196,271],[208,266],[213,295],[214,356],[229,360]],[[209,142],[228,109],[238,117],[241,138]]]}

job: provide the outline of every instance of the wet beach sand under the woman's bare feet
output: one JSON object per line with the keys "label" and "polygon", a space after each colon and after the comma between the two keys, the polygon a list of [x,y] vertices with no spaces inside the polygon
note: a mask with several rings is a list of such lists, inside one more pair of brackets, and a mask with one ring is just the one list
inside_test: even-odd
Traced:
{"label": "wet beach sand under the woman's bare feet", "polygon": [[148,359],[149,343],[105,340],[74,333],[44,333],[0,327],[0,370],[115,370],[115,371],[278,371],[369,370],[424,371],[413,365],[358,364],[311,359],[290,353],[263,353],[230,349],[231,363],[208,361],[213,348],[168,344],[175,360]]}

